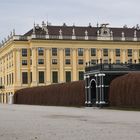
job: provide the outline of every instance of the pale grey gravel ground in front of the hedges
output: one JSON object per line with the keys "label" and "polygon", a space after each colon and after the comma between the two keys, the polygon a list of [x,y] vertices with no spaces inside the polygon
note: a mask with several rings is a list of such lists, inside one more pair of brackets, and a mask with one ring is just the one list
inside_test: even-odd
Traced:
{"label": "pale grey gravel ground in front of the hedges", "polygon": [[0,104],[0,140],[140,140],[140,112]]}

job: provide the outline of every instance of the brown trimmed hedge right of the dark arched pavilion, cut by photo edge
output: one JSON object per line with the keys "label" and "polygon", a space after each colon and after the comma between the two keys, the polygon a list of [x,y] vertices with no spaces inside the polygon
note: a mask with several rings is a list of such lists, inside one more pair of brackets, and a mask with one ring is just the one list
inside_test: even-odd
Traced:
{"label": "brown trimmed hedge right of the dark arched pavilion, cut by photo edge", "polygon": [[129,73],[111,82],[111,106],[140,108],[140,73]]}

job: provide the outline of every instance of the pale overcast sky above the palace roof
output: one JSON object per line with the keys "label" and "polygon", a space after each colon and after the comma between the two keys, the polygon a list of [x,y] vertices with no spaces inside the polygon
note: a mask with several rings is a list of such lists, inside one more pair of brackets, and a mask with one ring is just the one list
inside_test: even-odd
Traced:
{"label": "pale overcast sky above the palace roof", "polygon": [[0,40],[13,29],[24,34],[42,21],[132,27],[140,24],[140,0],[0,0]]}

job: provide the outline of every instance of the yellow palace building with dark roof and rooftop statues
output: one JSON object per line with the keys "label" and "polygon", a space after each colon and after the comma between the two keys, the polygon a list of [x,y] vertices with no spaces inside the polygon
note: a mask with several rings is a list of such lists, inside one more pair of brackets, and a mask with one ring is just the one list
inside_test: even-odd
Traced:
{"label": "yellow palace building with dark roof and rooftop statues", "polygon": [[21,88],[83,80],[86,65],[139,63],[140,30],[34,25],[0,44],[0,102]]}

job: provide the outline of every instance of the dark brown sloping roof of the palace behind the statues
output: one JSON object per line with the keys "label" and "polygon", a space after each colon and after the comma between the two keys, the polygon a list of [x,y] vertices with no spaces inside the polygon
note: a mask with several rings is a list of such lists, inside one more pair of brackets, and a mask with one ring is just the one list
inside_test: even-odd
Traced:
{"label": "dark brown sloping roof of the palace behind the statues", "polygon": [[[48,34],[50,36],[59,36],[60,30],[62,36],[72,36],[74,30],[75,36],[84,37],[85,32],[87,32],[89,37],[97,37],[98,36],[97,32],[100,31],[101,28],[103,27],[52,26],[52,25],[47,25],[44,27],[35,26],[33,29],[29,30],[23,36],[31,36],[33,32],[35,32],[35,35],[46,35],[46,30],[44,28],[47,29]],[[112,27],[105,27],[105,28],[107,28],[110,32],[112,32],[113,38],[121,38],[122,32],[124,33],[125,38],[134,38],[134,34],[136,34],[137,38],[140,38],[140,30],[136,28],[112,28]]]}

